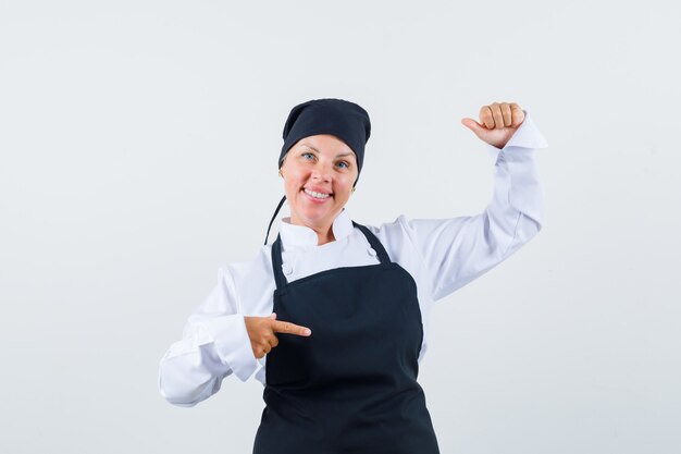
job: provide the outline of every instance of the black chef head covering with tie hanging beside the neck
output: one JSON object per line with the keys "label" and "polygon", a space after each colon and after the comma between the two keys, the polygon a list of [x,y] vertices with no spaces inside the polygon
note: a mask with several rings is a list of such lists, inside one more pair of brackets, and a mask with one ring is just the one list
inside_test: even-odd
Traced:
{"label": "black chef head covering with tie hanging beside the neck", "polygon": [[[278,157],[278,167],[282,167],[284,157],[298,140],[317,134],[332,134],[345,142],[355,151],[357,157],[357,179],[364,162],[364,145],[371,135],[369,113],[355,102],[337,98],[312,99],[294,107],[284,124],[284,145]],[[357,180],[352,187],[357,184]],[[286,196],[282,198],[272,216],[264,244],[276,213],[284,205]]]}

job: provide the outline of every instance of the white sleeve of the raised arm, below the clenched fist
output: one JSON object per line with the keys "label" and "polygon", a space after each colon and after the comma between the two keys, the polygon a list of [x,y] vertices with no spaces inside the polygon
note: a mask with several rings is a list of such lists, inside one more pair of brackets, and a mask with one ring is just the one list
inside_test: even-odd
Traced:
{"label": "white sleeve of the raised arm, below the clenched fist", "polygon": [[502,262],[542,228],[544,193],[534,151],[547,143],[528,112],[503,149],[485,146],[496,162],[493,197],[483,212],[451,219],[399,219],[423,259],[433,300]]}

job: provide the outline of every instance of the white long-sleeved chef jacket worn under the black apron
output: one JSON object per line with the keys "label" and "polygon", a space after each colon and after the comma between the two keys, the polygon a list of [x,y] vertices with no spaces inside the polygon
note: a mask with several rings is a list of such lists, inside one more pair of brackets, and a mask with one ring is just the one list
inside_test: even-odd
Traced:
{"label": "white long-sleeved chef jacket worn under the black apron", "polygon": [[[399,216],[379,228],[367,225],[391,260],[417,283],[423,322],[419,364],[428,351],[433,303],[505,260],[542,226],[544,195],[534,149],[546,148],[547,143],[528,112],[503,149],[486,147],[495,157],[494,195],[480,214],[450,219]],[[280,221],[282,268],[288,282],[327,269],[379,263],[345,209],[333,222],[336,240],[323,245],[317,244],[312,229],[289,221]],[[272,314],[275,283],[271,249],[271,245],[261,246],[252,260],[219,269],[218,284],[189,317],[182,340],[161,358],[158,386],[171,404],[194,406],[218,392],[222,380],[232,373],[246,381],[256,372],[264,385],[267,355],[255,357],[244,316]]]}

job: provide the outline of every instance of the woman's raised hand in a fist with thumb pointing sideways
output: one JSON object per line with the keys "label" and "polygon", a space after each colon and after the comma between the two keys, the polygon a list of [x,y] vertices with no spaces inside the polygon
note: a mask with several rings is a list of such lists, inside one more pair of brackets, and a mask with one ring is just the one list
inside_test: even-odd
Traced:
{"label": "woman's raised hand in a fist with thumb pointing sideways", "polygon": [[504,148],[524,119],[524,112],[516,102],[493,102],[480,108],[480,123],[473,119],[461,119],[461,123],[483,142]]}

